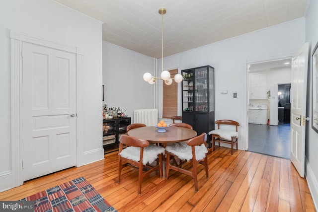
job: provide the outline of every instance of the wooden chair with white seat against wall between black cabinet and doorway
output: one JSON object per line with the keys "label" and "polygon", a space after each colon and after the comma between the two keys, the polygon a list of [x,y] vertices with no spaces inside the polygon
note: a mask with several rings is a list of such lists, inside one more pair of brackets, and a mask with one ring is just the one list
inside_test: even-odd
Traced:
{"label": "wooden chair with white seat against wall between black cabinet and doorway", "polygon": [[[238,126],[239,122],[233,121],[233,120],[228,120],[228,119],[222,119],[222,120],[217,120],[215,122],[218,125],[217,130],[212,130],[209,132],[209,135],[212,135],[212,151],[214,150],[214,143],[215,141],[222,143],[229,143],[231,144],[231,154],[233,154],[233,145],[236,143],[237,144],[237,150],[238,150],[238,138],[239,138],[239,133],[238,133]],[[236,127],[236,131],[234,130],[229,130],[229,129],[221,129],[221,125],[234,125]],[[224,127],[224,126],[223,126]]]}

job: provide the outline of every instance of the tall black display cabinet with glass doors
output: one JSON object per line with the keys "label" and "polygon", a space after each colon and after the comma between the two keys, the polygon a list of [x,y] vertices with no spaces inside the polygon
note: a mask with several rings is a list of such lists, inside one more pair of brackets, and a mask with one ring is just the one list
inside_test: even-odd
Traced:
{"label": "tall black display cabinet with glass doors", "polygon": [[[214,130],[214,68],[182,70],[182,122],[198,135]],[[211,136],[208,141],[211,141]]]}

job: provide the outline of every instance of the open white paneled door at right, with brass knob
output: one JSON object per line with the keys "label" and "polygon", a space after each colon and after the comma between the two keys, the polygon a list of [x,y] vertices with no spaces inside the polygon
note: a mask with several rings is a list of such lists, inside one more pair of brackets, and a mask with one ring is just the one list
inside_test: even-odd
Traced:
{"label": "open white paneled door at right, with brass knob", "polygon": [[308,43],[306,43],[292,58],[290,159],[301,177],[305,177],[308,46]]}

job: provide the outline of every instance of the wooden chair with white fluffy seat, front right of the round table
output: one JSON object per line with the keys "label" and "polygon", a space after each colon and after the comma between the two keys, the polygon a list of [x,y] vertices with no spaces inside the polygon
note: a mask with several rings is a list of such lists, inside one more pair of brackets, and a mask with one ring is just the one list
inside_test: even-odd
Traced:
{"label": "wooden chair with white fluffy seat, front right of the round table", "polygon": [[[166,154],[166,179],[168,179],[169,170],[175,170],[183,174],[189,175],[194,180],[194,189],[198,191],[197,179],[197,164],[200,163],[205,167],[205,174],[209,177],[208,171],[208,149],[207,149],[207,134],[202,133],[200,136],[194,137],[189,141],[174,143],[165,148]],[[181,166],[171,165],[170,156],[178,157],[180,160],[192,161],[192,171],[181,168]]]}

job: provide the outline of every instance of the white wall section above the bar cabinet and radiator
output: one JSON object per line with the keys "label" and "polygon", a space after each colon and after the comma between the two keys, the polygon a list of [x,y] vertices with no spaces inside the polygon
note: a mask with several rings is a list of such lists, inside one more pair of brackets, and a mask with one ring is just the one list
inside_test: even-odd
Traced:
{"label": "white wall section above the bar cabinet and radiator", "polygon": [[133,123],[135,109],[154,108],[155,87],[143,79],[153,71],[153,58],[103,41],[103,104],[126,110]]}

